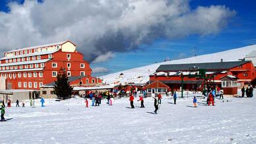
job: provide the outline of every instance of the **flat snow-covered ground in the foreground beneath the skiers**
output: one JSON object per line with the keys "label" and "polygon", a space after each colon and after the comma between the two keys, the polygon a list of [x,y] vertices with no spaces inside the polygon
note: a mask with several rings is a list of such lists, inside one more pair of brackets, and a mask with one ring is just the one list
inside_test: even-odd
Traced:
{"label": "flat snow-covered ground in the foreground beneath the skiers", "polygon": [[[256,93],[255,93],[256,95]],[[138,97],[136,98],[138,99]],[[231,102],[226,102],[226,101]],[[53,101],[46,107],[6,108],[7,122],[0,122],[0,143],[256,143],[256,98],[224,97],[216,106],[198,98],[164,97],[158,114],[152,98],[146,108],[129,107],[128,98],[112,106],[84,107],[83,99]]]}

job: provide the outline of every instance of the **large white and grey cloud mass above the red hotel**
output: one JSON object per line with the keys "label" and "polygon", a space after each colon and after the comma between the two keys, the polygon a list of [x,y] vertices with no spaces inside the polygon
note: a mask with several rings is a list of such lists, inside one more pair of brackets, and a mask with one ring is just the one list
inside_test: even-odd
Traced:
{"label": "large white and grey cloud mass above the red hotel", "polygon": [[217,34],[236,14],[225,6],[191,9],[187,0],[26,0],[9,7],[0,12],[0,49],[71,39],[90,62],[160,38]]}

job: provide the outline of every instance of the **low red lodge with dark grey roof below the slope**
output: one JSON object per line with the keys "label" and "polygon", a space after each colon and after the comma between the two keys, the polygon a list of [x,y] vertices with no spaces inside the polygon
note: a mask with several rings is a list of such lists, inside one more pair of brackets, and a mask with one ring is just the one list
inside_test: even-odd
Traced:
{"label": "low red lodge with dark grey roof below the slope", "polygon": [[[206,70],[207,82],[203,78],[189,77],[189,73],[198,73],[195,68]],[[189,72],[191,71],[191,72]],[[221,86],[221,78],[224,76],[234,76],[238,79],[237,86],[250,84],[256,78],[255,67],[251,61],[234,62],[207,62],[192,64],[166,64],[161,65],[154,75],[150,76],[150,83],[160,81],[168,85],[171,89],[180,90],[181,74],[183,74],[184,89],[197,91],[203,89],[202,85],[217,84]]]}

